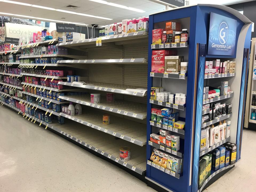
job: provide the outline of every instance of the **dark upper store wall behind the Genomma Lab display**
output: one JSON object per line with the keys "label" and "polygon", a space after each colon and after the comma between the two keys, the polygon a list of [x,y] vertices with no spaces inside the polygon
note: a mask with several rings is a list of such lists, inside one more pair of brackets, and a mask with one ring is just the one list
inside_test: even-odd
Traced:
{"label": "dark upper store wall behind the Genomma Lab display", "polygon": [[[227,7],[231,7],[235,10],[243,10],[243,15],[250,19],[254,24],[256,24],[256,1],[250,1],[245,3],[238,3],[234,5],[227,5]],[[254,26],[254,32],[251,33],[251,38],[256,37],[256,28]]]}

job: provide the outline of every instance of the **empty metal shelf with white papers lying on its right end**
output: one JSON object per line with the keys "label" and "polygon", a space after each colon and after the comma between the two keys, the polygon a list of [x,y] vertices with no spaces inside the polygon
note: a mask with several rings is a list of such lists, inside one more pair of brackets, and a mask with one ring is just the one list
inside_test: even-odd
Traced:
{"label": "empty metal shelf with white papers lying on its right end", "polygon": [[[134,95],[139,97],[146,96],[147,90],[143,87],[138,89],[138,91],[126,91],[126,89],[137,89],[136,87],[130,87],[126,85],[110,84],[110,83],[100,83],[100,82],[88,82],[86,85],[78,83],[69,82],[59,82],[60,85],[66,85],[71,87],[80,87],[84,89],[93,89],[99,91],[107,91],[112,93],[121,93],[126,95]],[[143,90],[142,90],[143,89]]]}

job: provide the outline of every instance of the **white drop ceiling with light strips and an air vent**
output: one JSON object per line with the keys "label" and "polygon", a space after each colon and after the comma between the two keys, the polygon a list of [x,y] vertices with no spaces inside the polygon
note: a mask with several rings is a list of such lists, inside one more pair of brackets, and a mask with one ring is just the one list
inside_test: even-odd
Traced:
{"label": "white drop ceiling with light strips and an air vent", "polygon": [[[29,3],[33,5],[51,7],[54,9],[62,9],[66,11],[74,11],[77,13],[90,14],[100,17],[111,18],[113,20],[99,19],[94,17],[87,17],[82,15],[76,15],[71,13],[64,13],[54,10],[41,9],[36,7],[17,5],[13,3],[0,2],[1,10],[0,12],[12,13],[19,15],[27,15],[31,17],[39,17],[46,19],[54,19],[60,21],[69,21],[69,22],[79,22],[85,23],[88,25],[99,24],[99,25],[108,25],[112,23],[121,22],[122,19],[132,19],[142,16],[148,16],[152,13],[165,10],[165,6],[151,2],[149,0],[106,0],[107,2],[116,3],[119,5],[124,5],[127,7],[132,7],[136,9],[141,9],[145,11],[144,13],[139,13],[136,11],[131,11],[119,7],[114,7],[98,2],[93,2],[89,0],[15,0],[17,2]],[[247,0],[248,1],[248,0]],[[210,0],[190,0],[190,4],[196,3],[211,3]],[[246,2],[234,1],[234,0],[215,0],[215,4],[219,5],[230,5]],[[68,5],[78,6],[77,9],[67,8]],[[8,16],[8,15],[7,15]],[[62,19],[65,18],[65,19]]]}

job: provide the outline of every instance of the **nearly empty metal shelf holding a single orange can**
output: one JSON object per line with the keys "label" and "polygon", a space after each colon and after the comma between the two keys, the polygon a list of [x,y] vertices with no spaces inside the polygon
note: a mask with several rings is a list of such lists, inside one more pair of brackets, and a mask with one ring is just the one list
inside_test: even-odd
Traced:
{"label": "nearly empty metal shelf holding a single orange can", "polygon": [[111,117],[111,124],[106,125],[102,123],[103,113],[95,115],[95,113],[92,112],[94,111],[75,116],[70,116],[64,113],[60,113],[60,115],[136,145],[143,146],[146,144],[146,126],[141,126],[137,122],[131,122],[127,119],[115,116]]}

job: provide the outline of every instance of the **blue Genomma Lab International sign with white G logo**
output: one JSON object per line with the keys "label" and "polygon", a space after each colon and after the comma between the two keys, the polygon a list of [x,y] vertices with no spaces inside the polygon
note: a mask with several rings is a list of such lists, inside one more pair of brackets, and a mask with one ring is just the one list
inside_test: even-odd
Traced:
{"label": "blue Genomma Lab International sign with white G logo", "polygon": [[235,52],[237,21],[210,13],[209,55],[233,55]]}

